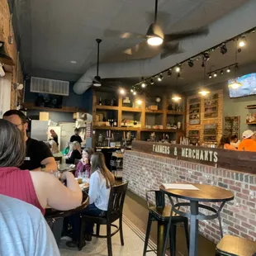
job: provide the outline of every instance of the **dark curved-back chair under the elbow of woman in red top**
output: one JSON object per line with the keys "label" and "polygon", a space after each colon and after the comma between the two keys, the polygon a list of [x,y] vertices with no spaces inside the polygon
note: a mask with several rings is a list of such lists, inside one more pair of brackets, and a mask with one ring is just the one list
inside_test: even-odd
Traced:
{"label": "dark curved-back chair under the elbow of woman in red top", "polygon": [[45,220],[50,226],[50,230],[52,230],[56,243],[59,244],[61,233],[63,230],[64,218],[72,216],[73,214],[82,211],[89,204],[89,197],[87,192],[83,192],[83,202],[81,206],[77,208],[71,209],[69,211],[57,211],[52,208],[45,209]]}

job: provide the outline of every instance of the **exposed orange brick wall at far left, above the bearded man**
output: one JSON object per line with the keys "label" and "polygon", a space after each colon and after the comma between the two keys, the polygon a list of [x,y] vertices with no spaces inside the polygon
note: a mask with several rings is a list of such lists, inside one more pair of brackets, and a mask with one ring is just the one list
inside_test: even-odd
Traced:
{"label": "exposed orange brick wall at far left, above the bearded man", "polygon": [[[7,38],[9,36],[9,20],[10,20],[10,12],[9,7],[7,4],[7,0],[0,0],[0,40],[3,40],[5,42],[5,45],[7,46],[7,53],[10,55],[14,61],[15,64],[17,64],[17,45],[15,43],[15,40],[12,45],[9,45],[7,42]],[[13,31],[12,31],[12,36]],[[19,71],[18,76],[16,74],[16,68],[17,66],[12,67],[12,83],[23,83],[22,73]],[[19,67],[21,65],[19,64]],[[12,89],[11,93],[11,108],[15,107],[15,90]],[[19,93],[18,97],[22,98],[23,92],[17,92]]]}

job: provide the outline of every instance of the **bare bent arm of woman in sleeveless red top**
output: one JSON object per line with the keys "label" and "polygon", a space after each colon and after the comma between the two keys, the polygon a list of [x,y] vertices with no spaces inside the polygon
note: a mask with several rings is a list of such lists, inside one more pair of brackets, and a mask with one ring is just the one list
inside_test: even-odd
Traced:
{"label": "bare bent arm of woman in sleeveless red top", "polygon": [[31,178],[36,196],[44,209],[51,206],[55,210],[67,211],[81,205],[82,191],[72,173],[61,174],[60,178],[66,180],[67,187],[50,173],[31,173]]}

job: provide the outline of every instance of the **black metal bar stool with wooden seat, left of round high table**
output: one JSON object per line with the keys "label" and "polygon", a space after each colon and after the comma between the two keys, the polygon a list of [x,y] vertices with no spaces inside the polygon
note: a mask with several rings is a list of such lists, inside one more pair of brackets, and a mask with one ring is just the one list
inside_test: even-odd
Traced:
{"label": "black metal bar stool with wooden seat, left of round high table", "polygon": [[[149,196],[148,196],[149,192],[154,192],[155,206],[150,206],[149,204]],[[146,201],[149,208],[149,219],[148,219],[147,231],[145,236],[143,256],[145,256],[147,252],[153,251],[153,250],[147,250],[152,221],[158,221],[158,237],[157,237],[158,250],[162,251],[164,249],[164,239],[166,235],[168,235],[168,230],[167,230],[168,220],[171,214],[171,206],[165,206],[165,199],[164,199],[163,192],[155,191],[155,190],[147,191]],[[175,215],[175,213],[173,213],[171,229],[169,230],[171,256],[175,256],[176,254],[176,228],[178,224],[183,224],[184,226],[186,240],[187,240],[187,250],[189,250],[188,220],[186,217],[177,216]]]}

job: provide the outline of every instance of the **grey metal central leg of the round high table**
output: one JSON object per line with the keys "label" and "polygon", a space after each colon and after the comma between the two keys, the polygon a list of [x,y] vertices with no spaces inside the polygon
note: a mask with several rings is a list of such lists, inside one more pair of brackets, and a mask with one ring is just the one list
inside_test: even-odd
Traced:
{"label": "grey metal central leg of the round high table", "polygon": [[189,256],[198,256],[198,201],[190,201],[190,211]]}

